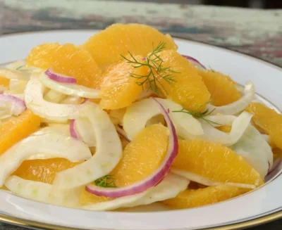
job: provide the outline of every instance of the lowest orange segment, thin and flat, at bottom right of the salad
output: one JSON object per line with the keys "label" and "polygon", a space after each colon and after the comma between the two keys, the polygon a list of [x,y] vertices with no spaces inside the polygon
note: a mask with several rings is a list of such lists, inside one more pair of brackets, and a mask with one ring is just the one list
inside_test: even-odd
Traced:
{"label": "lowest orange segment, thin and flat, at bottom right of the salad", "polygon": [[200,207],[240,196],[247,191],[247,189],[227,185],[210,186],[204,189],[188,189],[179,193],[176,198],[164,200],[163,203],[179,209]]}

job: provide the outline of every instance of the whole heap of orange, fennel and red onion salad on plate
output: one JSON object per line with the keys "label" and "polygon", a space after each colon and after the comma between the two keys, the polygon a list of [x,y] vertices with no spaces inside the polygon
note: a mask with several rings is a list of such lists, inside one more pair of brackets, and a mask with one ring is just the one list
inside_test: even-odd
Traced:
{"label": "whole heap of orange, fennel and red onion salad on plate", "polygon": [[[0,69],[0,188],[116,210],[217,203],[280,162],[282,116],[146,25],[35,46]],[[269,119],[269,116],[272,118]]]}

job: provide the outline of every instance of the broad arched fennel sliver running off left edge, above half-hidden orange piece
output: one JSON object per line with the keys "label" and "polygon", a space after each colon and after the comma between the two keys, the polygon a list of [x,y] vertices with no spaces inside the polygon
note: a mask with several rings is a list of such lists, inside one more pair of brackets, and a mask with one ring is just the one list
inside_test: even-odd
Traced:
{"label": "broad arched fennel sliver running off left edge, above half-hidden orange piece", "polygon": [[0,156],[0,187],[24,160],[37,154],[47,155],[47,158],[66,158],[72,162],[91,158],[90,149],[82,141],[55,132],[35,132],[35,135],[19,141]]}

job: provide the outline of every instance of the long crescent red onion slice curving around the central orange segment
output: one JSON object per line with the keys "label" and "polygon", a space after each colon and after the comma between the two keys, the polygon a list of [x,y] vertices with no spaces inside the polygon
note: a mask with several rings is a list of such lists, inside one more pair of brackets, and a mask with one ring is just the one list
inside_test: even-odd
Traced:
{"label": "long crescent red onion slice curving around the central orange segment", "polygon": [[169,117],[168,113],[166,112],[165,108],[161,105],[161,103],[159,103],[159,101],[157,101],[155,98],[151,98],[151,99],[156,103],[156,106],[161,111],[161,114],[164,115],[164,119],[166,120],[166,124],[169,130],[168,148],[166,151],[166,157],[164,158],[164,161],[161,163],[161,165],[159,165],[157,170],[149,177],[146,177],[142,181],[138,181],[137,183],[132,184],[130,186],[125,186],[123,188],[118,188],[118,189],[116,188],[107,189],[107,188],[95,186],[94,184],[90,184],[85,187],[86,191],[96,196],[106,196],[109,198],[130,196],[133,194],[142,193],[143,191],[146,191],[152,186],[157,185],[161,181],[161,179],[163,179],[166,176],[166,174],[171,168],[173,160],[176,158],[176,155],[178,153],[178,139],[176,135],[176,128],[174,127],[171,118]]}

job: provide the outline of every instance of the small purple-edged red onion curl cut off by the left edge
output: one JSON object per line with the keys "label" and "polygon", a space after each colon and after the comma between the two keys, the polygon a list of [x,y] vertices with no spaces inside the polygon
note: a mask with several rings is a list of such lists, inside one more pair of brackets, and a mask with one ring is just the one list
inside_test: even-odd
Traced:
{"label": "small purple-edged red onion curl cut off by the left edge", "polygon": [[0,108],[6,108],[7,103],[11,103],[11,113],[13,115],[20,115],[26,110],[25,101],[9,94],[0,94]]}

